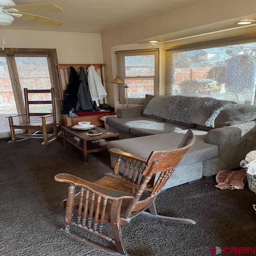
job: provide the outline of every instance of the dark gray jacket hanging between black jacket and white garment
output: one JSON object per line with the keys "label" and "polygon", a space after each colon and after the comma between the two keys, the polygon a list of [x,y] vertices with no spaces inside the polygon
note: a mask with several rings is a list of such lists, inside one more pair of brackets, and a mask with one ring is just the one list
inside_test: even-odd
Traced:
{"label": "dark gray jacket hanging between black jacket and white garment", "polygon": [[80,68],[79,74],[79,90],[76,111],[92,111],[98,110],[96,102],[92,101],[87,74],[83,67]]}

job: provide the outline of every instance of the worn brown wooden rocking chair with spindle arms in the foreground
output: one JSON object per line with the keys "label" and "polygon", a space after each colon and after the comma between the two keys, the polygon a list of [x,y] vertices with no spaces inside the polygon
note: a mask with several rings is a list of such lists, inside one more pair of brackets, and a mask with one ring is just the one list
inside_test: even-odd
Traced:
{"label": "worn brown wooden rocking chair with spindle arms in the foreground", "polygon": [[[178,149],[153,151],[148,159],[112,148],[118,156],[114,173],[105,174],[95,183],[70,174],[58,174],[55,180],[69,183],[68,198],[62,201],[66,207],[65,227],[61,230],[68,236],[112,255],[126,255],[121,226],[142,213],[167,222],[196,224],[193,220],[160,216],[154,201],[172,176],[176,166],[194,143],[195,136],[188,130]],[[119,175],[121,158],[126,158],[122,176]],[[156,182],[156,174],[159,174]],[[80,192],[75,194],[75,188]],[[145,212],[146,209],[149,212]],[[111,224],[112,234],[102,234],[104,222]],[[83,230],[114,244],[117,250],[106,248],[75,233]],[[74,232],[73,232],[74,230]]]}

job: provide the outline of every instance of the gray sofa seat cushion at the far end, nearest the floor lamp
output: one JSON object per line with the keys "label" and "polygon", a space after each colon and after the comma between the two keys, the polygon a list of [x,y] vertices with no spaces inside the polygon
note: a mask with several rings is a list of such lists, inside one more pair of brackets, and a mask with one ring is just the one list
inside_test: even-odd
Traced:
{"label": "gray sofa seat cushion at the far end, nearest the floor lamp", "polygon": [[145,116],[129,117],[129,118],[117,118],[114,116],[109,116],[107,118],[107,124],[109,126],[112,126],[126,133],[130,133],[131,127],[141,127],[144,124],[154,125],[157,122],[160,122],[160,120],[145,117]]}

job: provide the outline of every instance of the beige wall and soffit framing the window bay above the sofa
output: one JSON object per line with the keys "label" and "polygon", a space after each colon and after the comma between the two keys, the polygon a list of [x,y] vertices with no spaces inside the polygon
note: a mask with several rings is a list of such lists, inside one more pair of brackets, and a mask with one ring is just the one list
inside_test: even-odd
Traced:
{"label": "beige wall and soffit framing the window bay above the sofa", "polygon": [[[112,106],[120,106],[118,97],[114,92],[114,87],[109,83],[116,75],[115,65],[113,64],[113,48],[114,46],[134,44],[147,38],[157,38],[168,34],[170,39],[176,40],[186,36],[195,36],[208,32],[216,32],[225,30],[219,37],[230,36],[229,32],[236,27],[234,21],[240,18],[256,16],[256,1],[247,0],[246,4],[240,0],[194,0],[187,4],[178,6],[161,12],[154,16],[138,20],[126,26],[110,30],[102,34],[102,50],[105,66],[105,79],[108,91],[108,103]],[[228,29],[228,30],[227,30]],[[231,30],[230,30],[231,29]],[[183,32],[183,33],[181,33]],[[243,30],[239,30],[243,34]],[[198,37],[198,40],[213,40],[218,38],[216,33],[210,34],[207,39]],[[189,40],[183,40],[182,43],[189,43]],[[178,45],[181,41],[176,41],[169,45]],[[146,44],[141,44],[142,48],[146,48]],[[132,49],[133,46],[130,46]],[[125,48],[128,50],[129,46]],[[162,58],[164,59],[164,58]],[[164,64],[161,63],[162,68]],[[163,78],[162,78],[163,81]]]}

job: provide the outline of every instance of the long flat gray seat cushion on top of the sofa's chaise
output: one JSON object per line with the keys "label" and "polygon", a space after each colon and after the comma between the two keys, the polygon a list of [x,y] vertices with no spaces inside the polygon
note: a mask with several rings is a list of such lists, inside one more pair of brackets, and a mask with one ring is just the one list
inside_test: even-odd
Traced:
{"label": "long flat gray seat cushion on top of the sofa's chaise", "polygon": [[[152,151],[172,150],[178,147],[184,131],[155,134],[139,138],[115,140],[108,144],[108,149],[118,148],[120,150],[148,158]],[[202,132],[202,131],[199,131]],[[179,166],[186,166],[213,158],[218,155],[218,146],[204,142],[202,137],[196,135],[194,145],[188,150],[180,161]]]}

